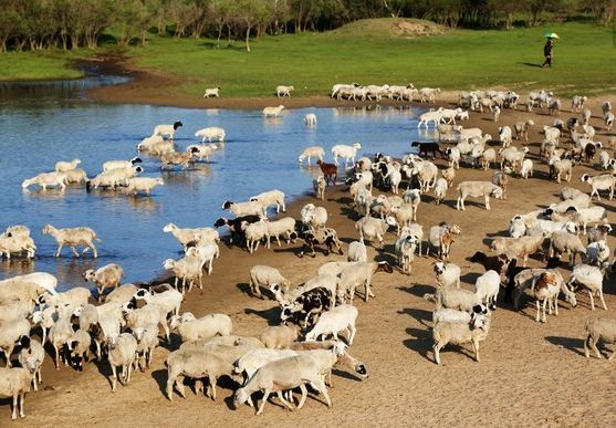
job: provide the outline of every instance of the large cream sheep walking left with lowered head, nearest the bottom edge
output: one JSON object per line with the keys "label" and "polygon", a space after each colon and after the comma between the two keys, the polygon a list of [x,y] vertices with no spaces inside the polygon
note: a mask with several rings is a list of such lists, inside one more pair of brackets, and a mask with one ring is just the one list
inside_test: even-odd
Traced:
{"label": "large cream sheep walking left with lowered head, nearest the bottom edge", "polygon": [[295,356],[275,361],[261,367],[254,376],[250,378],[246,386],[236,392],[233,396],[233,407],[237,408],[240,404],[246,401],[252,407],[253,404],[250,396],[261,390],[264,395],[257,415],[261,415],[272,392],[276,392],[282,404],[286,408],[292,409],[293,407],[284,399],[282,393],[300,387],[302,390],[302,398],[296,407],[300,409],[304,405],[307,396],[305,384],[311,384],[320,393],[323,393],[327,401],[327,407],[332,406],[332,401],[327,395],[327,388],[317,365],[307,356]]}

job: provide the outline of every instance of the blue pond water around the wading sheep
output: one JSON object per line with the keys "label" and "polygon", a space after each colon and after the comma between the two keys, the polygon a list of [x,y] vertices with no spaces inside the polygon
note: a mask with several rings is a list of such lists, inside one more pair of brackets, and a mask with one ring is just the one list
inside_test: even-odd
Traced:
{"label": "blue pond water around the wading sheep", "polygon": [[[163,272],[163,261],[180,257],[180,247],[161,229],[167,222],[179,227],[211,226],[221,216],[223,200],[247,200],[278,188],[291,200],[311,188],[315,168],[301,167],[304,147],[321,145],[331,158],[335,144],[362,143],[361,154],[407,153],[416,129],[418,109],[380,107],[301,108],[264,121],[260,111],[226,111],[158,107],[149,105],[96,104],[84,88],[104,81],[72,81],[46,85],[0,85],[0,228],[27,225],[38,246],[33,262],[0,262],[0,278],[32,271],[55,274],[60,289],[83,284],[81,273],[106,263],[119,263],[126,281],[148,281]],[[278,104],[272,100],[272,104]],[[306,128],[303,116],[315,113],[319,125]],[[223,152],[188,171],[165,173],[165,186],[152,197],[132,198],[113,192],[86,194],[82,187],[24,192],[21,181],[53,170],[58,160],[82,159],[88,176],[98,174],[109,159],[130,159],[136,145],[156,124],[181,121],[176,133],[178,150],[196,142],[194,133],[206,126],[227,132]],[[146,176],[160,175],[155,158],[144,158]],[[75,259],[69,249],[55,259],[55,241],[41,234],[50,222],[55,227],[92,227],[103,240],[98,259]],[[222,230],[221,230],[222,231]]]}

